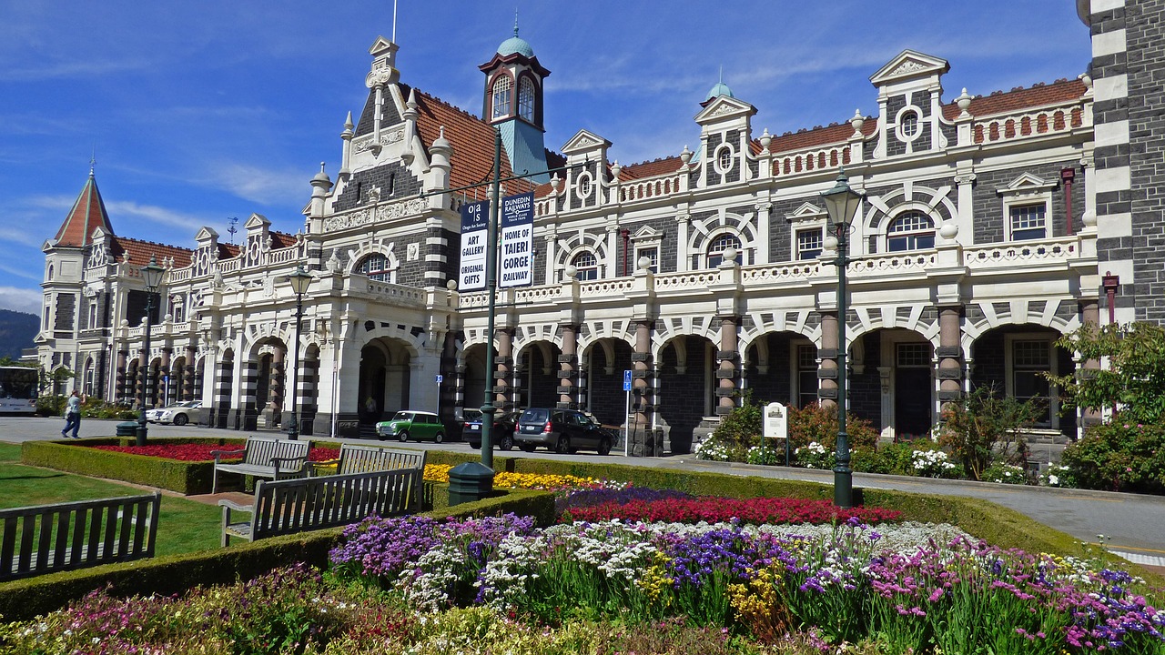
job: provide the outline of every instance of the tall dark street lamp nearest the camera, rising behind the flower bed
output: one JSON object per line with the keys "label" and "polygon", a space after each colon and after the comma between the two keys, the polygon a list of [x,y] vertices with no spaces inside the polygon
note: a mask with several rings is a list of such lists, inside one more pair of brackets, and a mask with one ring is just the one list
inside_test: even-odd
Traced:
{"label": "tall dark street lamp nearest the camera, rising behind the flower bed", "polygon": [[849,467],[849,435],[846,434],[846,266],[849,263],[849,226],[862,204],[864,193],[849,188],[845,169],[838,170],[838,183],[821,193],[825,209],[829,212],[829,230],[838,239],[838,451],[833,466],[833,503],[838,507],[854,506],[854,472]]}

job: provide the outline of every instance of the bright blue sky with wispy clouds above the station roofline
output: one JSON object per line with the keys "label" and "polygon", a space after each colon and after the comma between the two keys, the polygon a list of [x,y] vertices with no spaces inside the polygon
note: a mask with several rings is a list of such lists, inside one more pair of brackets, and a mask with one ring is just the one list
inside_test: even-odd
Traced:
{"label": "bright blue sky with wispy clouds above the station roofline", "polygon": [[[1088,30],[1071,0],[401,0],[402,82],[480,112],[488,61],[521,36],[550,69],[546,146],[581,128],[633,163],[698,141],[723,80],[757,134],[876,112],[869,76],[904,49],[951,62],[944,99],[1074,78]],[[38,312],[44,256],[85,183],[114,232],[183,247],[250,213],[295,232],[393,2],[0,0],[0,309]]]}

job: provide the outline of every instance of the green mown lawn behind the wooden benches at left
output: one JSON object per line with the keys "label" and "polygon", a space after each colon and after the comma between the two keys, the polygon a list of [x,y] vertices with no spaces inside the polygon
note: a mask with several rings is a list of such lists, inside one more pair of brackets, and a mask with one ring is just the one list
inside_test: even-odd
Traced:
{"label": "green mown lawn behind the wooden benches at left", "polygon": [[[19,462],[19,445],[0,444],[0,490],[3,490],[0,509],[143,493],[141,487],[23,466]],[[163,495],[155,555],[218,548],[223,534],[220,520],[221,510],[216,506]]]}

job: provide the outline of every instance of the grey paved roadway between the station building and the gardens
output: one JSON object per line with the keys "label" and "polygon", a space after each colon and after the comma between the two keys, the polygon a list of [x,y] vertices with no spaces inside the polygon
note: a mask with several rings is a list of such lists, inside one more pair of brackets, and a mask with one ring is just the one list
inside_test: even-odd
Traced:
{"label": "grey paved roadway between the station building and the gardens", "polygon": [[[112,436],[116,423],[119,422],[85,420],[82,422],[80,435],[83,438]],[[21,443],[24,441],[59,439],[62,428],[64,428],[63,418],[5,416],[0,417],[0,442]],[[182,428],[149,425],[149,435],[158,437],[221,436],[238,438],[254,434],[276,436],[280,432],[240,432],[238,430],[218,430],[191,425]],[[362,439],[341,441],[359,443]],[[445,444],[409,442],[408,446],[454,452],[475,452],[468,449],[465,443],[457,442]],[[503,455],[507,457],[542,457],[577,462],[634,464],[636,466],[709,471],[733,476],[807,480],[821,484],[833,483],[832,471],[702,462],[691,456],[624,458],[622,451],[613,451],[609,456],[601,457],[584,453],[556,455],[542,450],[534,453],[511,451]],[[0,493],[3,493],[2,485],[3,483],[0,480]],[[1097,543],[1102,541],[1106,548],[1131,562],[1155,568],[1165,566],[1165,498],[1162,496],[996,485],[963,480],[933,480],[929,478],[876,476],[871,473],[854,473],[854,486],[989,500],[1025,514],[1040,523],[1067,533],[1081,542]],[[224,494],[217,495],[225,498]],[[218,502],[217,496],[202,496],[197,500],[203,500],[212,505]],[[242,499],[242,501],[246,501],[246,499]],[[1104,535],[1103,540],[1099,535]]]}

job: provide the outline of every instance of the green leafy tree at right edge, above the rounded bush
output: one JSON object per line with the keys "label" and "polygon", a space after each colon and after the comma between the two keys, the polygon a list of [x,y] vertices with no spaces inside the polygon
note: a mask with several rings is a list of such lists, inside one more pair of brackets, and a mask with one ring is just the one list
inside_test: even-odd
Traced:
{"label": "green leafy tree at right edge, above the rounded bush", "polygon": [[1064,390],[1065,409],[1117,407],[1123,421],[1165,420],[1165,328],[1153,323],[1087,324],[1057,343],[1082,359],[1108,359],[1107,368],[1048,375]]}

